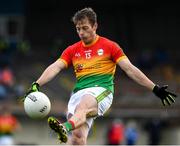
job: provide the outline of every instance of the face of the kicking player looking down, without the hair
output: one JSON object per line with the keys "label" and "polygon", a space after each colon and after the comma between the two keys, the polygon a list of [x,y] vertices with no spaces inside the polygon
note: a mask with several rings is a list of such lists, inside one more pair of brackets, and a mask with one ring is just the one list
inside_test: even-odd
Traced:
{"label": "face of the kicking player looking down, without the hair", "polygon": [[76,24],[77,33],[80,39],[85,44],[90,44],[95,40],[96,29],[97,29],[97,24],[94,24],[92,26],[87,18],[81,21],[78,21],[78,23]]}

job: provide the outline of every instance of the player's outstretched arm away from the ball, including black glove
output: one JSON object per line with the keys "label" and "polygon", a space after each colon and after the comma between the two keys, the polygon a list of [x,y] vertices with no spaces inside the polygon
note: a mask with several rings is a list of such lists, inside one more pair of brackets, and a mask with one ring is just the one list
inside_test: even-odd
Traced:
{"label": "player's outstretched arm away from the ball, including black glove", "polygon": [[150,91],[162,100],[163,105],[174,103],[174,97],[177,95],[167,91],[167,85],[158,86],[153,83],[141,70],[134,66],[128,58],[124,58],[117,63],[123,71],[135,82],[148,88]]}

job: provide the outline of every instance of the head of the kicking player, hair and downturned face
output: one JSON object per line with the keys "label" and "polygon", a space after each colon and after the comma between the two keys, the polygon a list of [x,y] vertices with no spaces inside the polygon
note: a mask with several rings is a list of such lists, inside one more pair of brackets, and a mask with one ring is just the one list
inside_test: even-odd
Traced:
{"label": "head of the kicking player, hair and downturned face", "polygon": [[77,11],[72,17],[80,39],[85,43],[91,43],[96,37],[97,15],[92,8],[84,8]]}

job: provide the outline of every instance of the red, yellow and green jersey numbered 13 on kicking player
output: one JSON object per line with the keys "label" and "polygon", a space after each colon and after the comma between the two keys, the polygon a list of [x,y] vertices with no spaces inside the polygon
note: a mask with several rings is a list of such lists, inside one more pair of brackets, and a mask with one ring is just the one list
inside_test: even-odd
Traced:
{"label": "red, yellow and green jersey numbered 13 on kicking player", "polygon": [[60,59],[73,65],[77,82],[74,92],[88,87],[104,87],[114,92],[116,62],[123,59],[123,50],[113,41],[97,36],[90,45],[79,41],[64,50]]}

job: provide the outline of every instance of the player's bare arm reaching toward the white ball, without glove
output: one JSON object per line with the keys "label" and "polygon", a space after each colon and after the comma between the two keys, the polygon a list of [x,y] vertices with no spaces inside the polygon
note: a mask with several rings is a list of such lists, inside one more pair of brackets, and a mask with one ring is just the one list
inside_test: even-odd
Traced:
{"label": "player's bare arm reaching toward the white ball, without glove", "polygon": [[38,83],[39,86],[46,84],[47,82],[52,80],[65,67],[66,64],[61,59],[58,59],[44,70],[44,72],[36,81],[36,83]]}

